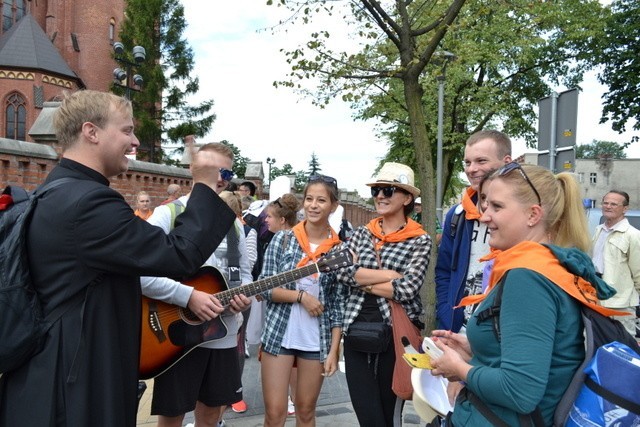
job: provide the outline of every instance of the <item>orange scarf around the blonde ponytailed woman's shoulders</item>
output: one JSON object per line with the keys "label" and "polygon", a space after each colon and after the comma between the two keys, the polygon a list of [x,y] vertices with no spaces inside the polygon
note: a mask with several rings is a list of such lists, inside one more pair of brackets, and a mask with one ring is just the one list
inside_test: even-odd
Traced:
{"label": "orange scarf around the blonde ponytailed woman's shoulders", "polygon": [[[491,256],[485,256],[484,258],[491,258]],[[624,314],[598,305],[596,290],[591,283],[567,271],[549,248],[540,243],[529,241],[519,243],[506,251],[498,251],[495,255],[487,292],[481,295],[464,297],[458,307],[477,304],[484,300],[502,276],[514,268],[526,268],[543,275],[561,287],[571,297],[578,300],[578,302],[604,316],[620,316]]]}

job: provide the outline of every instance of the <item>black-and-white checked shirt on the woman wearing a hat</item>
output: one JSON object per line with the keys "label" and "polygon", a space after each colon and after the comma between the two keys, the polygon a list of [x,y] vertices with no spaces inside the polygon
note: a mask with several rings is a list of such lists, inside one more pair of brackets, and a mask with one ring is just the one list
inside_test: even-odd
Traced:
{"label": "black-and-white checked shirt on the woman wearing a hat", "polygon": [[[378,258],[374,247],[375,237],[366,226],[359,227],[348,242],[348,247],[358,255],[360,267],[378,269]],[[393,299],[404,307],[411,320],[419,319],[424,313],[420,288],[431,256],[431,237],[428,234],[413,237],[403,242],[385,243],[379,251],[383,269],[394,270],[402,274],[399,279],[391,281]],[[342,332],[346,333],[349,325],[362,309],[365,292],[356,283],[354,276],[356,266],[340,269],[337,273],[341,286],[344,304],[344,321]],[[386,298],[377,298],[378,307],[384,321],[391,325],[391,307]]]}

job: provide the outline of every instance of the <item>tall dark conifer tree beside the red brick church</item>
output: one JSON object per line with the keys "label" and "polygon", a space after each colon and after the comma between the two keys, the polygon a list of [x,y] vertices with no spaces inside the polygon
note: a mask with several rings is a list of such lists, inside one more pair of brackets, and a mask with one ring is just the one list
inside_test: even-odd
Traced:
{"label": "tall dark conifer tree beside the red brick church", "polygon": [[[187,135],[208,133],[215,120],[213,100],[189,104],[199,82],[193,76],[193,50],[183,38],[185,26],[179,0],[127,0],[120,40],[129,62],[134,62],[134,45],[146,49],[146,60],[134,67],[144,84],[132,101],[141,155],[152,162],[168,161],[159,148],[163,138],[182,145]],[[120,87],[113,91],[125,93]]]}

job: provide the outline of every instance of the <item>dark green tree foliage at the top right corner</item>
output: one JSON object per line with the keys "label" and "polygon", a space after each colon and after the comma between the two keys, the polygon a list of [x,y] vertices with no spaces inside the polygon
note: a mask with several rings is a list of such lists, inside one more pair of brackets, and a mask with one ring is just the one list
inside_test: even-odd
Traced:
{"label": "dark green tree foliage at the top right corner", "polygon": [[[640,1],[616,0],[611,10],[598,58],[602,66],[598,80],[609,88],[600,123],[611,120],[614,130],[624,132],[635,120],[633,129],[640,130]],[[638,136],[632,138],[637,140]]]}

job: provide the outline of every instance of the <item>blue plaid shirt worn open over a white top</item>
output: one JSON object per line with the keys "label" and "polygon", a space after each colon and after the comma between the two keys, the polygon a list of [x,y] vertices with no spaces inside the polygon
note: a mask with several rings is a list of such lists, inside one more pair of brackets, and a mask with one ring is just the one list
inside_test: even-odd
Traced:
{"label": "blue plaid shirt worn open over a white top", "polygon": [[[334,247],[331,251],[339,248]],[[260,278],[270,277],[278,273],[294,270],[305,253],[298,244],[291,230],[280,231],[273,237],[264,255]],[[296,289],[296,282],[282,286],[285,289]],[[320,360],[324,361],[331,346],[331,329],[342,326],[341,300],[338,294],[335,273],[320,273],[320,295],[318,299],[324,305],[324,312],[318,317],[320,325]],[[271,354],[279,354],[284,333],[291,315],[291,303],[273,302],[272,291],[262,296],[267,301],[265,324],[262,329],[262,348]]]}

